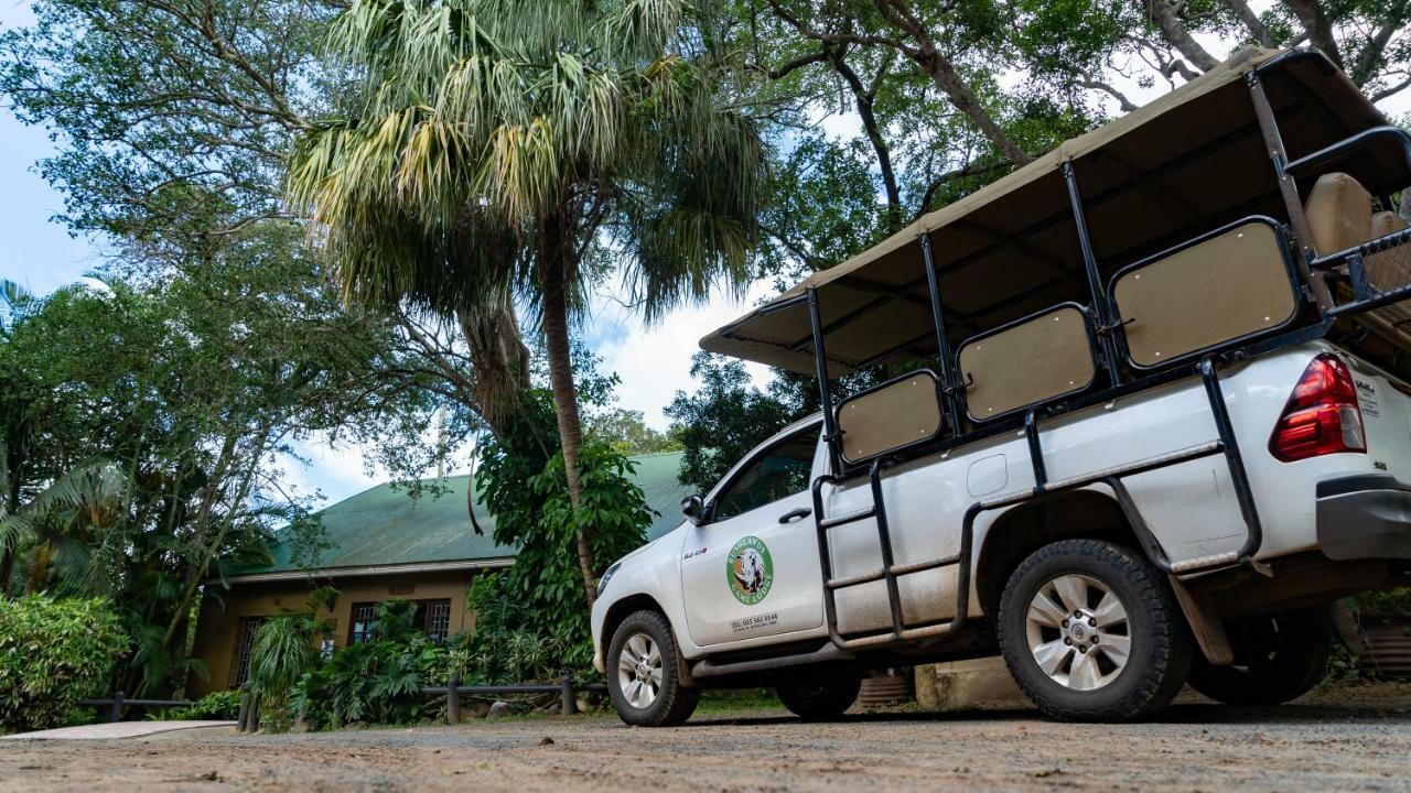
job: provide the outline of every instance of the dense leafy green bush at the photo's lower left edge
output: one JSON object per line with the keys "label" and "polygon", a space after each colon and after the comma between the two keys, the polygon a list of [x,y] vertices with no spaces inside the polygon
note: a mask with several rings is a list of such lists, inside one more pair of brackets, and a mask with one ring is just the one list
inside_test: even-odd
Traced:
{"label": "dense leafy green bush at the photo's lower left edge", "polygon": [[110,694],[127,650],[103,598],[0,598],[0,728],[47,730],[83,717],[75,700]]}

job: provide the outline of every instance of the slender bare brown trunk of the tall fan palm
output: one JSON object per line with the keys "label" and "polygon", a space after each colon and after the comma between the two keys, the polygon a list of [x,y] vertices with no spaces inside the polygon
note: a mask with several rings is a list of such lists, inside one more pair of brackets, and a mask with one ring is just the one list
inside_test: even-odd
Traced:
{"label": "slender bare brown trunk of the tall fan palm", "polygon": [[[559,219],[547,219],[542,224],[539,285],[543,293],[545,351],[549,356],[549,385],[553,389],[553,412],[559,420],[559,447],[563,452],[564,478],[569,481],[569,502],[577,512],[583,501],[583,483],[579,480],[583,419],[579,415],[579,392],[573,382],[573,356],[569,343],[569,244]],[[591,607],[597,600],[597,573],[593,538],[583,523],[579,523],[577,545],[583,594]]]}

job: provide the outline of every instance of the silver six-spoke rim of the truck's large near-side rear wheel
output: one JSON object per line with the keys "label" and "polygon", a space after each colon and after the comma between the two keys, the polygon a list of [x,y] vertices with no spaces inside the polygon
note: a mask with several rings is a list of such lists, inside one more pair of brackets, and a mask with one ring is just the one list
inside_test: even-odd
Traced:
{"label": "silver six-spoke rim of the truck's large near-side rear wheel", "polygon": [[1038,587],[1029,601],[1026,631],[1040,672],[1075,691],[1112,683],[1132,656],[1126,605],[1089,576],[1070,573]]}

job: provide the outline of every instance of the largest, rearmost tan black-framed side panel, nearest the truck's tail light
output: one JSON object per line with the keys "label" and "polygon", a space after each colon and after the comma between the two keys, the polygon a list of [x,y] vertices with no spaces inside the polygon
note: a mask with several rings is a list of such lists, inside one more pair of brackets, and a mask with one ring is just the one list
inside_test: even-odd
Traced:
{"label": "largest, rearmost tan black-framed side panel, nearest the truck's tail light", "polygon": [[1156,367],[1284,325],[1298,309],[1284,257],[1274,226],[1249,222],[1119,272],[1127,357]]}

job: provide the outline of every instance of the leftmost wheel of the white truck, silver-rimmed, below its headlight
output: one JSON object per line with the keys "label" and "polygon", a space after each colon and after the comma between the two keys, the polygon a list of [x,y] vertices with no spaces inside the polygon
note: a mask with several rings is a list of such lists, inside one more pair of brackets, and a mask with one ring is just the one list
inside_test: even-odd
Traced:
{"label": "leftmost wheel of the white truck, silver-rimmed, below its headlight", "polygon": [[635,611],[608,645],[608,696],[634,727],[674,727],[690,718],[700,689],[682,686],[676,638],[660,612]]}

